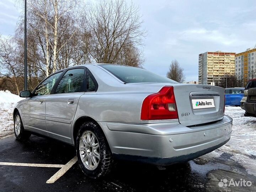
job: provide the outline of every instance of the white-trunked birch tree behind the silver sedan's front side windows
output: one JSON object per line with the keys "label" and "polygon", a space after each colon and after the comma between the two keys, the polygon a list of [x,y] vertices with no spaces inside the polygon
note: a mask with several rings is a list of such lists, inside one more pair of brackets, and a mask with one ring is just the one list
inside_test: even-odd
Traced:
{"label": "white-trunked birch tree behind the silver sedan's front side windows", "polygon": [[[60,21],[63,17],[69,17],[73,15],[75,20],[74,10],[78,1],[69,0],[31,0],[31,14],[38,16],[44,22],[44,38],[46,48],[44,48],[44,54],[46,59],[46,76],[49,74],[49,47],[53,51],[53,69],[50,72],[55,72],[57,69],[58,54],[61,49],[69,42],[74,36],[76,30],[69,34],[69,37],[65,41],[59,42],[59,30]],[[36,30],[36,29],[35,29]],[[52,41],[51,41],[52,39]]]}

